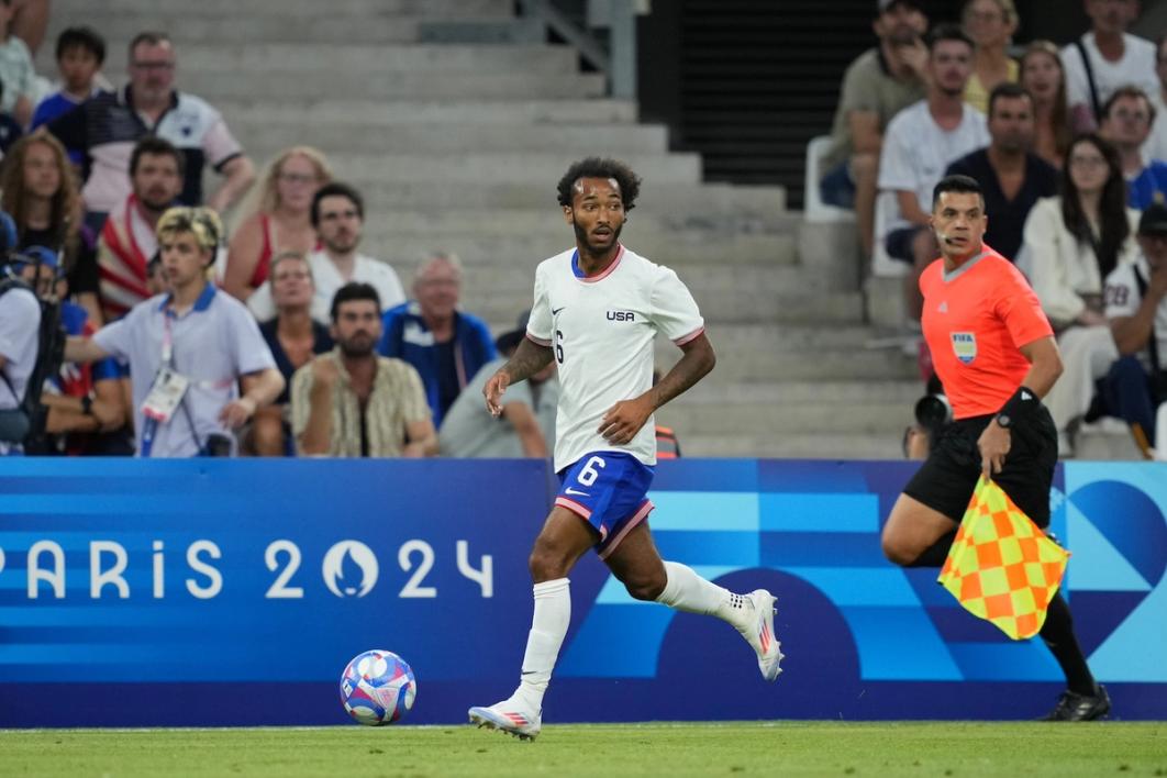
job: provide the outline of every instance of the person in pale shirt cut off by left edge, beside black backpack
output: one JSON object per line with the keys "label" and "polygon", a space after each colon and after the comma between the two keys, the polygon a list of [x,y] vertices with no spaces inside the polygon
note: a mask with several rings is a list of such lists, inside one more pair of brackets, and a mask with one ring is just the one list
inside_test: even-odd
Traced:
{"label": "person in pale shirt cut off by left edge, beside black backpack", "polygon": [[41,303],[8,268],[0,280],[0,456],[23,454],[25,394],[40,351]]}

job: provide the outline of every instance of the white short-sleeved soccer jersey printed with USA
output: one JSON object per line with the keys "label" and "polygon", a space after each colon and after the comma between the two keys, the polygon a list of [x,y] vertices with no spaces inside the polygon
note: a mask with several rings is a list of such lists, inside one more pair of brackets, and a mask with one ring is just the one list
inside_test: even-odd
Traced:
{"label": "white short-sleeved soccer jersey printed with USA", "polygon": [[526,335],[550,346],[559,369],[555,470],[589,451],[627,451],[656,464],[652,416],[629,443],[600,434],[612,406],[652,386],[656,334],[684,345],[705,329],[693,295],[677,274],[620,248],[602,274],[582,278],[575,250],[544,260],[534,272],[534,304]]}

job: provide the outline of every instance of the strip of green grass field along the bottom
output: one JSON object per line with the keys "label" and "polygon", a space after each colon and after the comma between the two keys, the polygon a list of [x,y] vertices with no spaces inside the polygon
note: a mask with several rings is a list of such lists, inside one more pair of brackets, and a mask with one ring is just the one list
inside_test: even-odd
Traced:
{"label": "strip of green grass field along the bottom", "polygon": [[1167,776],[1167,723],[0,731],[0,776]]}

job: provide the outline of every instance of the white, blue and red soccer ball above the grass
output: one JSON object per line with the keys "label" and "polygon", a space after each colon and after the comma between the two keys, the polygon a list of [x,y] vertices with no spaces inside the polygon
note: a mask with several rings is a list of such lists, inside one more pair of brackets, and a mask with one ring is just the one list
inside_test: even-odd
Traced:
{"label": "white, blue and red soccer ball above the grass", "polygon": [[392,651],[373,649],[352,658],[341,675],[341,702],[359,724],[392,724],[413,707],[418,682]]}

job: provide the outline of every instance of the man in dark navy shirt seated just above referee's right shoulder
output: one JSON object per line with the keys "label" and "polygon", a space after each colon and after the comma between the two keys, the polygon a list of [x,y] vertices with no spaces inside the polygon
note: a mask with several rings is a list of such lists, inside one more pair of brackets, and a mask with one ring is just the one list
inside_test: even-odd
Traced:
{"label": "man in dark navy shirt seated just above referee's right shoulder", "polygon": [[1015,260],[1029,210],[1057,194],[1057,170],[1034,154],[1033,98],[1018,84],[993,87],[988,98],[987,147],[960,157],[946,175],[966,175],[980,183],[988,215],[985,243]]}

